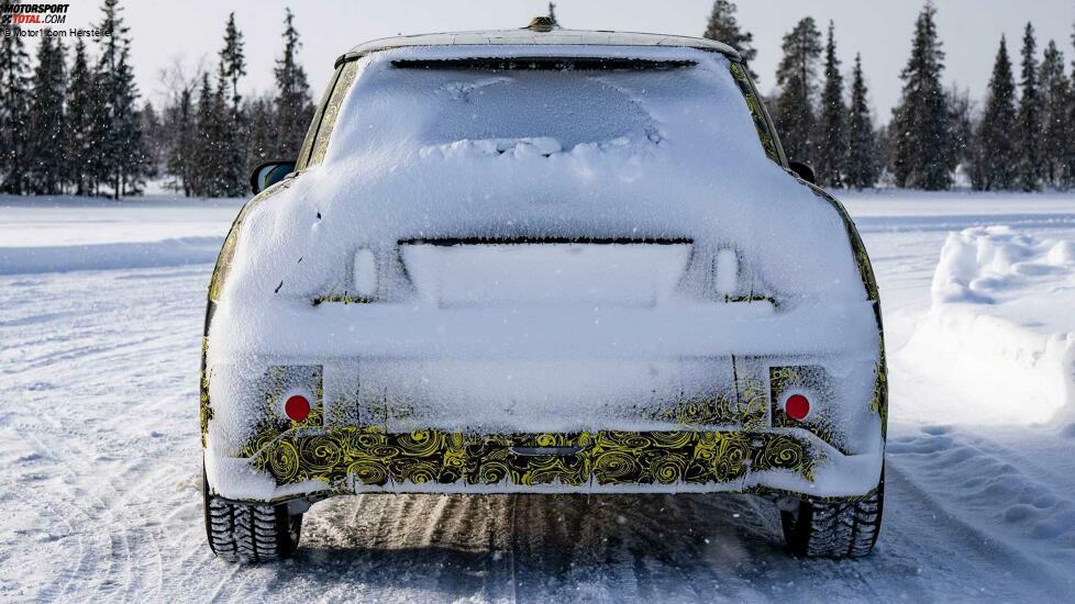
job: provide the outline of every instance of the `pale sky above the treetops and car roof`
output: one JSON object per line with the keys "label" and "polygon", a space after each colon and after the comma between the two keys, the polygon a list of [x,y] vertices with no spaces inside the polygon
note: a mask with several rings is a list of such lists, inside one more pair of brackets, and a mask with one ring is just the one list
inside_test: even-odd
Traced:
{"label": "pale sky above the treetops and car roof", "polygon": [[[71,25],[97,20],[97,0],[76,0]],[[947,53],[949,81],[980,98],[1000,35],[1015,53],[1032,21],[1039,45],[1055,38],[1071,64],[1075,2],[1071,0],[937,0],[939,29]],[[525,25],[543,14],[539,0],[122,0],[134,34],[134,63],[142,90],[160,90],[158,71],[175,58],[215,64],[224,21],[235,11],[246,37],[247,90],[268,90],[273,59],[280,51],[280,21],[290,5],[304,44],[301,59],[315,92],[328,80],[333,59],[361,42],[395,35]],[[711,0],[559,0],[556,12],[567,27],[700,35]],[[740,22],[754,33],[753,67],[768,92],[779,60],[780,37],[808,14],[824,25],[836,22],[839,51],[850,71],[855,52],[872,88],[873,103],[887,121],[899,96],[899,70],[907,60],[918,0],[740,0]]]}

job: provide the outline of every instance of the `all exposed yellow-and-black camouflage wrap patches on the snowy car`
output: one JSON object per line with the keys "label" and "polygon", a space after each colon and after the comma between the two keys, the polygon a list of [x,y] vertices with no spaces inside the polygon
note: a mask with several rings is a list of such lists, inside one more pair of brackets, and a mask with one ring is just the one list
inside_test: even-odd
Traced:
{"label": "all exposed yellow-and-black camouflage wrap patches on the snowy car", "polygon": [[[786,166],[772,121],[746,70],[735,61],[731,63],[730,69],[746,100],[766,156]],[[326,125],[330,128],[354,75],[346,70],[344,74],[337,72],[336,83],[343,80],[346,85],[339,88],[341,92],[328,113],[325,103],[322,103],[322,114],[318,121],[328,119]],[[317,131],[313,132],[315,138],[308,141],[310,147],[304,153],[309,160],[320,160],[325,145],[321,144],[315,148],[313,143],[326,142],[330,131],[325,131],[323,139],[317,136]],[[209,323],[235,253],[239,230],[244,216],[257,203],[288,186],[290,183],[286,180],[244,206],[224,242],[213,271],[206,321],[207,337],[202,345],[199,415],[203,447],[213,417],[209,396],[211,374],[206,368]],[[832,204],[846,226],[862,282],[868,299],[874,303],[877,327],[880,331],[877,284],[862,239],[843,206],[824,191],[817,188],[813,191]],[[753,293],[725,300],[767,300],[776,304],[771,298]],[[346,293],[311,300],[313,305],[367,302],[368,299],[350,297]],[[879,415],[884,435],[887,423],[887,377],[883,333],[879,333],[879,343],[869,410]],[[728,485],[723,490],[777,492],[766,486],[745,486],[752,472],[765,471],[789,472],[812,482],[814,470],[825,460],[825,451],[832,449],[816,446],[817,440],[808,433],[833,445],[836,440],[836,426],[832,425],[823,407],[807,422],[787,418],[780,409],[780,395],[788,390],[804,389],[824,399],[828,395],[824,369],[814,366],[771,367],[760,358],[741,359],[741,362],[746,365],[741,366],[734,358],[732,360],[733,371],[738,372],[728,392],[702,400],[685,394],[669,402],[667,406],[640,411],[635,415],[673,424],[672,429],[506,434],[439,429],[391,432],[386,425],[379,425],[377,417],[367,416],[362,422],[357,417],[336,418],[332,416],[333,413],[326,412],[320,366],[270,367],[262,377],[257,398],[252,401],[264,401],[264,411],[252,420],[255,424],[250,438],[241,450],[233,449],[233,455],[248,460],[255,470],[270,476],[278,486],[315,482],[324,484],[329,493],[350,493],[362,485],[377,488],[423,484],[720,484]],[[749,370],[743,371],[741,368]],[[311,413],[302,422],[291,422],[284,416],[281,409],[284,395],[296,383],[304,384],[312,395]],[[867,384],[868,382],[863,383],[863,398]],[[330,405],[329,410],[335,411],[335,407]],[[407,409],[396,405],[391,413],[399,416],[406,414]],[[386,424],[388,415],[386,406]],[[239,449],[237,443],[233,446]],[[519,452],[520,449],[550,447],[569,450],[557,451],[555,455]],[[839,446],[835,448],[845,454]],[[868,494],[862,495],[866,496]]]}

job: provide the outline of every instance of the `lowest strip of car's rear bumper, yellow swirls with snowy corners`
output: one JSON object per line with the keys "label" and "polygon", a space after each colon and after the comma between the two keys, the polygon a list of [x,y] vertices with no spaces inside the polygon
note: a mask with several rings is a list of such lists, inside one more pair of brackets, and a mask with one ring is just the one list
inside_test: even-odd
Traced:
{"label": "lowest strip of car's rear bumper, yellow swirls with snowy corners", "polygon": [[[555,454],[542,455],[546,449]],[[769,492],[843,499],[875,489],[883,460],[880,447],[844,455],[798,428],[496,435],[296,428],[251,452],[207,465],[218,494],[258,502],[364,492]]]}

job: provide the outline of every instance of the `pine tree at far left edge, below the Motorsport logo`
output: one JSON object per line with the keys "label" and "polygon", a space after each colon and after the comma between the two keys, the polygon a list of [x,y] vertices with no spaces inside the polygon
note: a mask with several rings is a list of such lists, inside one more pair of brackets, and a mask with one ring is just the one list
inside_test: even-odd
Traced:
{"label": "pine tree at far left edge, below the Motorsport logo", "polygon": [[18,26],[0,36],[0,192],[21,194],[29,184],[30,54]]}

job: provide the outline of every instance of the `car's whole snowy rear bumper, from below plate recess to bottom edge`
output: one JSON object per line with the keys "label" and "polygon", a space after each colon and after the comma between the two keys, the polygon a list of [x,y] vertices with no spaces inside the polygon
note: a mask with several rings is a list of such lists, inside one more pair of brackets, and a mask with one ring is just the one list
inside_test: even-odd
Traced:
{"label": "car's whole snowy rear bumper, from below plate recess to bottom edge", "polygon": [[[348,306],[281,306],[271,321],[221,307],[218,320],[234,320],[213,322],[202,412],[217,494],[845,499],[880,476],[884,360],[869,303],[599,316]],[[782,412],[793,391],[814,403],[805,422]],[[293,392],[313,402],[299,423],[282,414]],[[512,451],[546,446],[578,450]]]}

